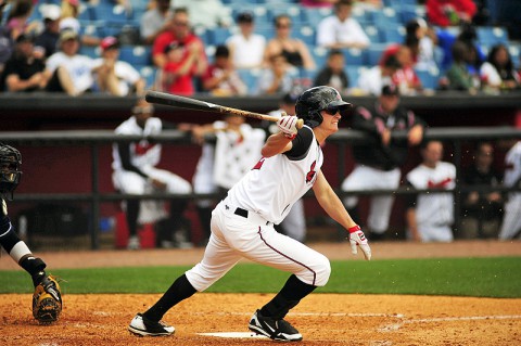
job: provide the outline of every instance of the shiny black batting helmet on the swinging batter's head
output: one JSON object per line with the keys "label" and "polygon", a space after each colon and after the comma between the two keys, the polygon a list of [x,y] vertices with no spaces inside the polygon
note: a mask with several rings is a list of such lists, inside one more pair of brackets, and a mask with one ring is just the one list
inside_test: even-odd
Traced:
{"label": "shiny black batting helmet on the swinging batter's head", "polygon": [[323,120],[321,111],[328,110],[331,114],[335,114],[351,106],[351,103],[342,100],[336,89],[320,86],[304,91],[296,100],[295,111],[296,115],[304,119],[304,124],[314,128]]}

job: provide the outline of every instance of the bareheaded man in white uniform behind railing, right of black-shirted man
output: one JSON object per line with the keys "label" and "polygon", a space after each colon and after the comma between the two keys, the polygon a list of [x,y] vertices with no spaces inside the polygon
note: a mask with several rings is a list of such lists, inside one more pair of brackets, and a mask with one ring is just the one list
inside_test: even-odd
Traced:
{"label": "bareheaded man in white uniform behind railing, right of black-shirted man", "polygon": [[422,163],[409,171],[406,183],[417,190],[446,190],[446,193],[418,193],[407,202],[407,238],[415,242],[452,242],[456,167],[442,162],[443,144],[427,141],[421,146]]}

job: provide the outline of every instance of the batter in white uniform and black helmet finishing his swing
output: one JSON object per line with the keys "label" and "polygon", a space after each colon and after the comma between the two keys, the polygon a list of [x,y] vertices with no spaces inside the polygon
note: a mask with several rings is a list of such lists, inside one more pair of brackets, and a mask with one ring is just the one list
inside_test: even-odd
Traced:
{"label": "batter in white uniform and black helmet finishing his swing", "polygon": [[[297,342],[302,334],[284,317],[331,274],[329,259],[303,243],[278,233],[292,205],[313,188],[327,214],[338,221],[350,239],[353,254],[360,247],[367,260],[371,248],[360,227],[351,218],[321,171],[320,144],[339,130],[342,113],[351,104],[331,87],[304,91],[296,101],[296,116],[282,116],[279,132],[262,149],[262,158],[212,214],[212,235],[203,259],[174,281],[147,311],[137,313],[128,326],[137,335],[170,335],[175,328],[160,322],[179,302],[203,292],[245,257],[260,265],[291,273],[279,293],[257,309],[249,329],[274,341]],[[344,113],[345,114],[345,113]],[[298,118],[304,126],[297,129]]]}

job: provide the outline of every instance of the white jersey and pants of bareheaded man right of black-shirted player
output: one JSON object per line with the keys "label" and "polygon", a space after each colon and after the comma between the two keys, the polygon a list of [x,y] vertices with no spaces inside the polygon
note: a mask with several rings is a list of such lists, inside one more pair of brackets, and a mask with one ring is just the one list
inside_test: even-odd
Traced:
{"label": "white jersey and pants of bareheaded man right of black-shirted player", "polygon": [[[440,162],[435,168],[419,165],[407,174],[407,181],[419,190],[454,190],[456,166]],[[421,193],[416,203],[416,221],[422,241],[452,241],[453,193]]]}

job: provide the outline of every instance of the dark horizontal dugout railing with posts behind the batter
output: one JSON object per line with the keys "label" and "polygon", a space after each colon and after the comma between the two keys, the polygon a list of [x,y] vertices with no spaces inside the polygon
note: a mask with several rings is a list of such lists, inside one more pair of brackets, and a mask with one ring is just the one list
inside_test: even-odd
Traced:
{"label": "dark horizontal dugout railing with posts behind the batter", "polygon": [[[393,133],[394,138],[404,139],[405,132]],[[465,143],[478,142],[483,140],[508,140],[508,139],[521,139],[521,129],[514,127],[440,127],[430,128],[425,132],[425,139],[441,140],[445,143],[452,144],[452,157],[453,163],[457,167],[457,177],[461,174],[461,157],[462,146]],[[90,205],[90,247],[98,249],[99,234],[100,234],[100,206],[104,202],[118,202],[123,200],[171,200],[171,198],[207,198],[215,197],[213,194],[168,194],[168,193],[154,193],[144,195],[128,195],[117,192],[101,192],[100,191],[100,164],[99,164],[99,151],[102,145],[113,144],[116,142],[131,142],[139,141],[142,137],[139,136],[114,136],[111,130],[67,130],[67,131],[10,131],[0,132],[0,141],[11,145],[25,145],[25,146],[55,146],[55,145],[85,145],[90,148],[91,159],[91,190],[87,193],[16,193],[16,198],[10,203],[41,203],[41,202],[71,202],[71,203],[88,203]],[[177,130],[167,130],[161,134],[148,138],[150,141],[164,143],[169,145],[187,144],[191,142],[189,134]],[[212,137],[208,140],[213,140]],[[342,181],[345,176],[346,167],[346,154],[350,150],[350,145],[353,143],[371,141],[373,139],[365,136],[364,133],[351,129],[341,129],[328,139],[328,143],[338,145],[338,178]],[[328,159],[333,159],[329,157]],[[405,195],[411,193],[437,193],[446,192],[440,190],[411,190],[406,187],[401,187],[397,190],[372,190],[372,191],[350,191],[342,192],[340,189],[335,189],[340,196],[345,195],[378,195],[378,194],[394,194]],[[455,225],[458,225],[458,217],[460,215],[460,194],[462,192],[471,190],[481,191],[499,191],[508,192],[513,189],[506,188],[492,188],[492,187],[465,187],[459,183],[459,179],[456,181],[456,188],[453,190],[455,194]],[[308,193],[306,196],[310,196],[313,193]]]}

